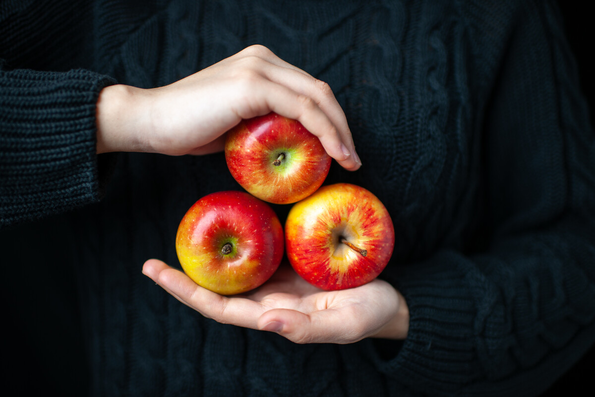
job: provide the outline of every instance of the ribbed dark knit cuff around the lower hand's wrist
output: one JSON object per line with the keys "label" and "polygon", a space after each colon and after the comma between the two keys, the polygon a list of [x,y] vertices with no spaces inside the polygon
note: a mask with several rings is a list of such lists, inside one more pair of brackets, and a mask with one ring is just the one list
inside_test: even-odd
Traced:
{"label": "ribbed dark knit cuff around the lower hand's wrist", "polygon": [[478,374],[475,329],[478,309],[455,252],[431,261],[385,271],[382,278],[405,297],[409,332],[395,357],[372,353],[377,368],[428,395],[448,393]]}

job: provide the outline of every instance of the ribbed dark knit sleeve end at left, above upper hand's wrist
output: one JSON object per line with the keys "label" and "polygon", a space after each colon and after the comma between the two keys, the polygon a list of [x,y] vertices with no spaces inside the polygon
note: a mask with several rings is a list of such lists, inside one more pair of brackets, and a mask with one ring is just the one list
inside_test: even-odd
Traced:
{"label": "ribbed dark knit sleeve end at left, above upper hand's wrist", "polygon": [[0,227],[101,198],[95,107],[113,80],[87,70],[6,70],[0,63]]}

